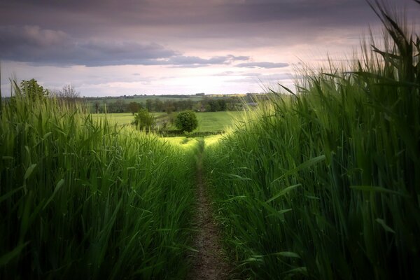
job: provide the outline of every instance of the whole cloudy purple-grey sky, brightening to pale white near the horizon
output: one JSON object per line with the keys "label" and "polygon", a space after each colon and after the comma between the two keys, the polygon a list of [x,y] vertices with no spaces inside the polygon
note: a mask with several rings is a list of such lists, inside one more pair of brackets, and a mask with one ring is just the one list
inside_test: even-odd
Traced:
{"label": "whole cloudy purple-grey sky, brightening to pale white near the horizon", "polygon": [[[387,2],[418,31],[419,4]],[[276,90],[352,57],[369,28],[380,36],[365,0],[0,0],[1,91],[11,78],[86,97]]]}

